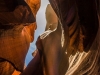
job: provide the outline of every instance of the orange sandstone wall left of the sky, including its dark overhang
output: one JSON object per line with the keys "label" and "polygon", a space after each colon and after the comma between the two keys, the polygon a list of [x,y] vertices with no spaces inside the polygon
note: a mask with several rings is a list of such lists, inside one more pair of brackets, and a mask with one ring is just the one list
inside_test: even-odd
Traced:
{"label": "orange sandstone wall left of the sky, including its dark overhang", "polygon": [[[23,71],[30,42],[34,40],[33,35],[37,26],[36,14],[33,12],[38,11],[40,1],[38,2],[38,7],[33,11],[24,0],[0,1],[0,59],[3,59],[4,63],[9,62],[13,69],[19,71]],[[33,0],[32,4],[35,3]],[[4,70],[5,73],[8,71],[9,69]]]}

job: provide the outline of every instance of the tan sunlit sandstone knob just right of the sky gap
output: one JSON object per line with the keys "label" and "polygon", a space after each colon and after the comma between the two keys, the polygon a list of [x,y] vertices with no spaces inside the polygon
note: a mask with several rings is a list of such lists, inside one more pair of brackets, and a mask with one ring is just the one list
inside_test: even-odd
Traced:
{"label": "tan sunlit sandstone knob just right of the sky gap", "polygon": [[57,27],[58,18],[51,5],[48,4],[45,11],[46,16],[46,28],[45,30],[54,30]]}

